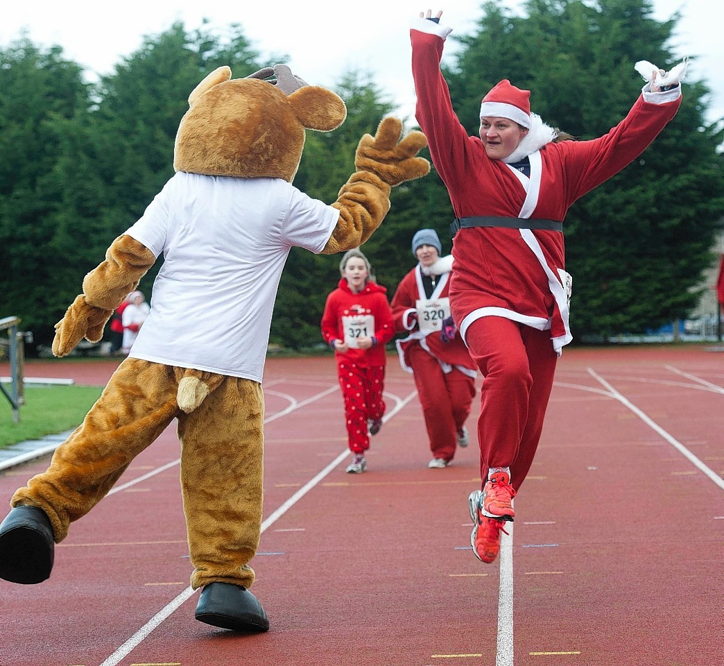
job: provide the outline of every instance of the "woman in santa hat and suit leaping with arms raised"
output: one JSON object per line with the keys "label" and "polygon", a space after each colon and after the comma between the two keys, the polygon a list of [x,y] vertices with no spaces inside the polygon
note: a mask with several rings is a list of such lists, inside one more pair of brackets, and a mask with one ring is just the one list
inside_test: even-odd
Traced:
{"label": "woman in santa hat and suit leaping with arms raised", "polygon": [[665,75],[637,64],[648,83],[631,110],[605,135],[585,141],[545,125],[531,113],[529,91],[501,80],[483,98],[479,136],[468,136],[439,69],[450,33],[439,25],[441,15],[428,10],[413,21],[416,119],[455,212],[452,316],[484,376],[481,490],[468,506],[473,552],[492,562],[533,462],[557,357],[572,340],[563,219],[675,116],[686,65]]}

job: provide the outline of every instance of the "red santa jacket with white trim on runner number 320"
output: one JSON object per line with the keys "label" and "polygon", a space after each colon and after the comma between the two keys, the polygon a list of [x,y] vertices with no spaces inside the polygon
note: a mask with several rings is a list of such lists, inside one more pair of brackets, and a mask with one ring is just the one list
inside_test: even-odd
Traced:
{"label": "red santa jacket with white trim on runner number 320", "polygon": [[[432,299],[448,298],[450,295],[450,272],[439,276],[432,292]],[[427,353],[449,366],[458,366],[470,376],[476,375],[476,365],[470,358],[468,348],[465,346],[460,334],[450,342],[442,342],[439,331],[423,333],[418,326],[416,303],[426,300],[425,289],[422,284],[421,266],[416,266],[400,280],[395,295],[392,297],[392,317],[395,320],[395,330],[398,333],[408,332],[410,335],[404,340],[397,340],[397,351],[400,353],[400,365],[403,370],[412,371],[409,353],[413,345],[421,346]]]}

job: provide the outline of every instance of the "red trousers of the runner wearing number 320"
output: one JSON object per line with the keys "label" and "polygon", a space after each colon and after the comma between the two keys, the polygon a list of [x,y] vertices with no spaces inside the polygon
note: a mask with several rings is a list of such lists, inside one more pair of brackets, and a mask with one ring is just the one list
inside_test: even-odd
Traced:
{"label": "red trousers of the runner wearing number 320", "polygon": [[408,361],[413,369],[432,455],[449,462],[455,456],[458,431],[470,415],[475,379],[455,368],[445,374],[437,358],[420,345],[409,347]]}

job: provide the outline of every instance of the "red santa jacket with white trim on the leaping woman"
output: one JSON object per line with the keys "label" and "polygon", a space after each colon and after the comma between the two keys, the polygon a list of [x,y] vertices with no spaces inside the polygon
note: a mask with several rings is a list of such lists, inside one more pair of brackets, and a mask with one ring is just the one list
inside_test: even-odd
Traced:
{"label": "red santa jacket with white trim on the leaping woman", "polygon": [[[573,202],[639,156],[681,104],[679,88],[647,92],[602,137],[542,142],[529,154],[531,177],[526,179],[508,164],[490,159],[480,138],[468,136],[460,125],[439,69],[445,36],[446,29],[432,21],[416,22],[411,30],[412,71],[416,119],[458,218],[530,217],[563,222]],[[550,329],[560,353],[572,340],[566,298],[570,276],[560,272],[565,270],[563,234],[521,227],[460,229],[452,250],[452,313],[463,337],[472,321],[488,315]]]}

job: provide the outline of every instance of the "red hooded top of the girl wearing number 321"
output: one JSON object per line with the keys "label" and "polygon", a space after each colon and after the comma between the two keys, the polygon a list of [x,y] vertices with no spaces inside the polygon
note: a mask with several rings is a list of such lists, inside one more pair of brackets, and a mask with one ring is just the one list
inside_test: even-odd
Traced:
{"label": "red hooded top of the girl wearing number 321", "polygon": [[[384,345],[392,340],[395,334],[395,324],[392,322],[390,303],[387,302],[387,289],[375,282],[367,282],[361,292],[352,293],[347,280],[340,279],[340,284],[327,296],[324,304],[324,313],[321,316],[321,335],[327,344],[332,340],[345,340],[345,317],[371,315],[374,317],[374,332],[365,332],[369,337],[374,336],[376,345],[370,349],[356,349],[350,347],[346,353],[335,350],[337,359],[344,358],[354,363],[367,366],[384,366],[387,362]],[[349,321],[349,320],[348,320]],[[354,333],[359,333],[359,330]],[[353,334],[354,334],[353,333]]]}

